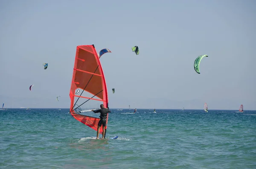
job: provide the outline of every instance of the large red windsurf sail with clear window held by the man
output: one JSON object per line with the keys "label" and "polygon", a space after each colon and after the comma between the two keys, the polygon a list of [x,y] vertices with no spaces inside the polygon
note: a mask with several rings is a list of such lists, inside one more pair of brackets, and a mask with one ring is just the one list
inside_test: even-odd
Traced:
{"label": "large red windsurf sail with clear window held by the man", "polygon": [[70,100],[70,114],[76,120],[97,131],[99,114],[90,110],[99,109],[100,104],[108,108],[108,91],[94,45],[82,45],[76,48]]}

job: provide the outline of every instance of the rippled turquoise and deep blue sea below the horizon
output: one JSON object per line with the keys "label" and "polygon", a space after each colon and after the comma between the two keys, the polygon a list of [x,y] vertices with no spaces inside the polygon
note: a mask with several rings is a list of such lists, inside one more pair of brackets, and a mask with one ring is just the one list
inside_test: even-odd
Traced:
{"label": "rippled turquoise and deep blue sea below the horizon", "polygon": [[256,168],[256,111],[111,110],[116,140],[94,139],[69,109],[0,111],[0,168]]}

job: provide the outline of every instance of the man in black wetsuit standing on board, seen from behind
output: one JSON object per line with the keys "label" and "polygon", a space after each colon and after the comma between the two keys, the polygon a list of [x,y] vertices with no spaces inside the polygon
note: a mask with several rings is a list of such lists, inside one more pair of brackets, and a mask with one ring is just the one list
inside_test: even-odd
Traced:
{"label": "man in black wetsuit standing on board, seen from behind", "polygon": [[104,107],[103,104],[100,105],[100,109],[99,110],[92,110],[94,113],[100,113],[100,120],[98,123],[98,129],[97,129],[97,137],[96,139],[99,139],[99,130],[102,126],[103,132],[102,132],[102,139],[104,139],[105,137],[105,126],[106,126],[106,122],[107,122],[107,115],[108,113],[110,113],[111,111],[109,109],[106,109]]}

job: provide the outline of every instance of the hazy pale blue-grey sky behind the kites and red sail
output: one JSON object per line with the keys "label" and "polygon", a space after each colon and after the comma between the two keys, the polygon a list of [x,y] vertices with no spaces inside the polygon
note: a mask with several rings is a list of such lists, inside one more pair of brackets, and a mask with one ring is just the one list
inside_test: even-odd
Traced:
{"label": "hazy pale blue-grey sky behind the kites and red sail", "polygon": [[0,0],[0,102],[68,108],[76,46],[94,44],[112,52],[100,59],[110,108],[256,109],[255,8],[254,0]]}

